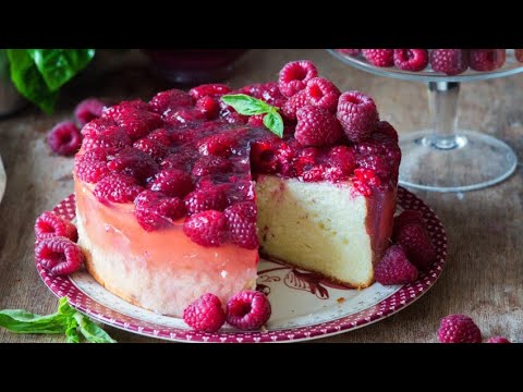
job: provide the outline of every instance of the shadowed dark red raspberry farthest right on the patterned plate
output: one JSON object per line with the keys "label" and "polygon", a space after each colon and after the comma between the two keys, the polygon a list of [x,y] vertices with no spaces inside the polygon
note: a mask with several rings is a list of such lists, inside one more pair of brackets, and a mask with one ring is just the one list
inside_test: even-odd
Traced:
{"label": "shadowed dark red raspberry farthest right on the patterned plate", "polygon": [[394,233],[393,241],[405,250],[409,260],[419,270],[426,270],[436,260],[436,248],[424,225],[418,223],[403,224]]}

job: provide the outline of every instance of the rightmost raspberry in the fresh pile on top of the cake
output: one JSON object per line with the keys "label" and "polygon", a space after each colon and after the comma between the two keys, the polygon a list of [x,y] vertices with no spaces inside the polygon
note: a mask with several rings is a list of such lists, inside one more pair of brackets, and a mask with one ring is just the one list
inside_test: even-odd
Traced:
{"label": "rightmost raspberry in the fresh pile on top of the cake", "polygon": [[353,143],[368,138],[379,120],[374,100],[360,91],[346,91],[340,96],[337,117]]}

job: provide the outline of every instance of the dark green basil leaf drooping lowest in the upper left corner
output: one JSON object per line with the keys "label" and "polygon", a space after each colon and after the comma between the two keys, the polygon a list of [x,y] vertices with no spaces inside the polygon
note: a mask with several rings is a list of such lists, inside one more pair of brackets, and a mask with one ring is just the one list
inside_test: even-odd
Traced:
{"label": "dark green basil leaf drooping lowest in the upper left corner", "polygon": [[36,68],[33,59],[24,49],[8,49],[11,81],[25,98],[46,113],[52,113],[58,91],[51,91]]}

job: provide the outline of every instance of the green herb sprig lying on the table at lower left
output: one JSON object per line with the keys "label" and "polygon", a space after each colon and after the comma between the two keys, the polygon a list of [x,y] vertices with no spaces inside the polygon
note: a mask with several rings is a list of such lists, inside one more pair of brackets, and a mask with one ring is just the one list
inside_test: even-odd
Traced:
{"label": "green herb sprig lying on the table at lower left", "polygon": [[0,310],[0,327],[14,333],[64,333],[68,343],[80,343],[81,334],[93,343],[117,342],[88,317],[72,308],[68,297],[61,297],[57,313],[48,316],[22,309]]}

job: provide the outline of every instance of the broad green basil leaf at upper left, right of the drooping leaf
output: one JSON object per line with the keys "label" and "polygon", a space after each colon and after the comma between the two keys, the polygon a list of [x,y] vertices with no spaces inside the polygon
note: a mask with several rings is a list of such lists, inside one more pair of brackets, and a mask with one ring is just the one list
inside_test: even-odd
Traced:
{"label": "broad green basil leaf at upper left, right of the drooping leaf", "polygon": [[49,90],[57,91],[95,57],[95,49],[27,49]]}

